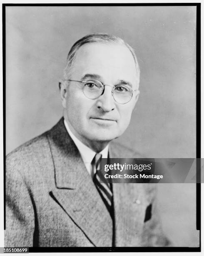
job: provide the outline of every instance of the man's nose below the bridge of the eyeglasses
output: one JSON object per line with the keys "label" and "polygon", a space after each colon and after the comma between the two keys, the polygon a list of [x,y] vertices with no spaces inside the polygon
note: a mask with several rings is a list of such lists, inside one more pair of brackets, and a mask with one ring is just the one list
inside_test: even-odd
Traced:
{"label": "man's nose below the bridge of the eyeglasses", "polygon": [[104,85],[104,92],[97,98],[97,108],[102,109],[104,112],[109,112],[115,108],[115,100],[112,96],[113,86]]}

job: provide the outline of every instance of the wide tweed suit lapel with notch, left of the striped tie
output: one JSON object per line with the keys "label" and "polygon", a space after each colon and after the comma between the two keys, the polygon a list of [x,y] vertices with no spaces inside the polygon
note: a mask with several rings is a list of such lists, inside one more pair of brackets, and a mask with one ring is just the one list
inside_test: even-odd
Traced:
{"label": "wide tweed suit lapel with notch, left of the striped tie", "polygon": [[112,219],[63,119],[48,133],[55,167],[52,195],[95,246],[112,246]]}

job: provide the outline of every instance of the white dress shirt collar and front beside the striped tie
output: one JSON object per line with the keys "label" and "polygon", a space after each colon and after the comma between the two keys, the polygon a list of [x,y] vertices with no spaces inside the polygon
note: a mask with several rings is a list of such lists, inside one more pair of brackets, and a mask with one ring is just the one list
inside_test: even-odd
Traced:
{"label": "white dress shirt collar and front beside the striped tie", "polygon": [[[82,156],[82,160],[86,166],[86,169],[88,173],[93,177],[92,173],[92,166],[91,162],[94,158],[95,154],[97,154],[95,151],[93,151],[91,148],[87,147],[85,144],[83,144],[70,130],[65,118],[64,118],[65,127],[67,129],[67,132],[69,133],[70,137],[74,141],[75,145],[77,146],[78,150],[80,151],[80,154]],[[108,157],[108,145],[99,153],[102,154],[102,158]]]}

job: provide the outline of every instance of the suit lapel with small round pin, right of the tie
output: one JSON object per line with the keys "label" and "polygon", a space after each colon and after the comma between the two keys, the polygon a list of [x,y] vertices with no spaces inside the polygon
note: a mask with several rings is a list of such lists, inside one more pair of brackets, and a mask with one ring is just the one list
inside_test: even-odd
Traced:
{"label": "suit lapel with small round pin, right of the tie", "polygon": [[[123,158],[110,145],[110,158]],[[139,246],[147,200],[143,184],[113,183],[114,246]]]}

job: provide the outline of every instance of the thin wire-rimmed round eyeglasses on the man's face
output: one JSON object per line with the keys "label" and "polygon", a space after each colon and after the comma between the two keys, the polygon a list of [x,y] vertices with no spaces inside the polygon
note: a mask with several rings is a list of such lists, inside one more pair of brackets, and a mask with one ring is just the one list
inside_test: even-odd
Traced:
{"label": "thin wire-rimmed round eyeglasses on the man's face", "polygon": [[126,84],[118,84],[116,86],[102,84],[102,82],[92,79],[87,81],[77,81],[77,80],[65,80],[65,81],[72,81],[72,82],[80,82],[83,84],[83,93],[88,99],[97,99],[101,95],[103,95],[105,86],[112,87],[112,97],[114,100],[119,104],[126,104],[132,99],[132,95],[134,91],[139,90],[132,90],[132,88]]}

